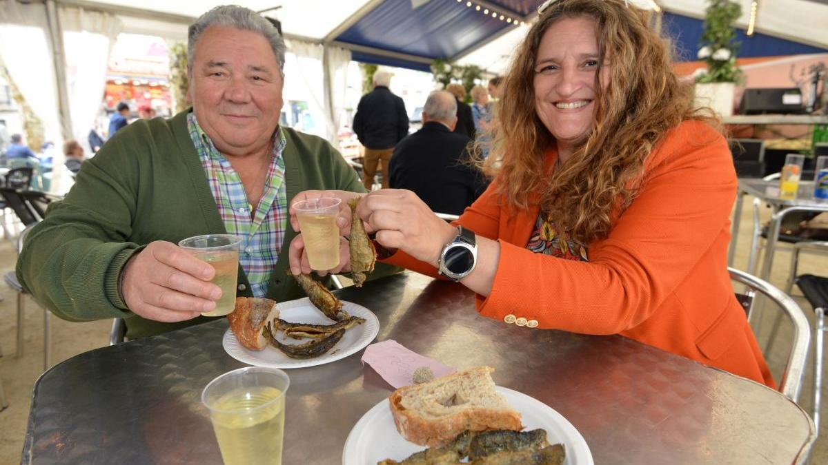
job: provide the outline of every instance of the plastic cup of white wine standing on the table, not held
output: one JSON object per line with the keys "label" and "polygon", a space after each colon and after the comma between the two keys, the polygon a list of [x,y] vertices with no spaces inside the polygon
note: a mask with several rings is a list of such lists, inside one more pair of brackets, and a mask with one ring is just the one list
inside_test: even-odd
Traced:
{"label": "plastic cup of white wine standing on the table, not held", "polygon": [[246,367],[224,373],[205,387],[225,465],[282,463],[285,394],[291,380],[278,368]]}

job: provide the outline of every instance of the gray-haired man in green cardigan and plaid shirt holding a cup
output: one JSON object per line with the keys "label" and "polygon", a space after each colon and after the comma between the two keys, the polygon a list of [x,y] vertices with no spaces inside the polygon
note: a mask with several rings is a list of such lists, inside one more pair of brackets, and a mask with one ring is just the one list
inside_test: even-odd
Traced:
{"label": "gray-haired man in green cardigan and plaid shirt holding a cup", "polygon": [[221,295],[214,268],[176,243],[225,232],[242,238],[239,296],[300,296],[288,200],[363,188],[326,141],[278,126],[284,59],[276,28],[246,8],[191,25],[193,108],[133,122],[86,162],[26,237],[17,276],[36,300],[64,319],[125,318],[130,338],[203,321]]}

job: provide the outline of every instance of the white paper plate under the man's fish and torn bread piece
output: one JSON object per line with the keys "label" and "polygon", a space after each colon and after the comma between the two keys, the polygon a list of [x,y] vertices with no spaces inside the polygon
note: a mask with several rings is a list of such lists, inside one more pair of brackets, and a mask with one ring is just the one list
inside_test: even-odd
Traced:
{"label": "white paper plate under the man's fish and torn bread piece", "polygon": [[[277,304],[279,309],[279,318],[291,323],[310,323],[310,324],[334,324],[335,321],[325,317],[319,309],[310,303],[308,298],[299,300],[290,300],[287,302],[279,302]],[[359,351],[359,349],[367,346],[373,338],[377,337],[379,333],[379,320],[377,316],[366,309],[362,305],[346,302],[342,300],[342,309],[348,312],[351,316],[358,316],[365,319],[365,323],[358,324],[354,328],[345,331],[344,336],[339,339],[339,343],[330,349],[330,351],[314,358],[291,358],[287,357],[284,352],[277,348],[267,346],[262,351],[249,350],[243,348],[238,343],[238,339],[233,334],[233,331],[228,328],[224,333],[222,346],[224,351],[230,357],[235,358],[239,362],[247,363],[248,365],[256,365],[258,367],[272,367],[272,368],[303,368],[313,367],[315,365],[322,365],[323,363],[330,363],[340,358],[348,357],[350,354]],[[285,338],[285,335],[280,331],[276,336],[280,343],[286,344],[301,344],[306,343],[308,339],[291,339]]]}

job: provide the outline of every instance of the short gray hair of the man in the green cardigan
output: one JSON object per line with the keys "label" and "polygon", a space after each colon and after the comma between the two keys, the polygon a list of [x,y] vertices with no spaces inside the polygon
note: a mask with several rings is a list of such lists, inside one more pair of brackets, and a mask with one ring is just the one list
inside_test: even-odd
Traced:
{"label": "short gray hair of the man in the green cardigan", "polygon": [[267,21],[262,15],[245,7],[237,5],[222,5],[214,7],[209,12],[201,15],[199,19],[190,24],[187,33],[187,71],[193,69],[193,57],[195,57],[195,45],[198,43],[201,34],[209,26],[233,27],[242,31],[256,32],[264,36],[273,49],[273,55],[279,63],[279,70],[284,74],[285,70],[285,41],[279,35],[276,26]]}

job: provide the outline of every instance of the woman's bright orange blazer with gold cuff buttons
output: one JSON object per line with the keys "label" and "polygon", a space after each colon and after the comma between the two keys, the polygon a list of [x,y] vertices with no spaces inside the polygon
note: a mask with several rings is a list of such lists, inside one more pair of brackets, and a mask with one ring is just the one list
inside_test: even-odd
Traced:
{"label": "woman's bright orange blazer with gold cuff buttons", "polygon": [[[555,159],[556,151],[546,152],[546,166]],[[477,296],[480,314],[621,334],[775,387],[727,272],[737,179],[719,132],[696,121],[668,132],[647,159],[643,189],[609,236],[588,244],[589,261],[527,250],[539,208],[508,209],[497,183],[457,221],[500,242],[492,291]],[[402,252],[387,262],[436,275]]]}

